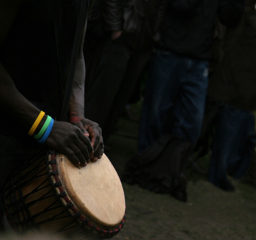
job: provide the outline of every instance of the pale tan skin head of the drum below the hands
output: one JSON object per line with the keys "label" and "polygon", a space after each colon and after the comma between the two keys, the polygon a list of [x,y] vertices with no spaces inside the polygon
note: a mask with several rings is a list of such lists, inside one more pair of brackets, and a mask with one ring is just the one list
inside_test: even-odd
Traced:
{"label": "pale tan skin head of the drum below the hands", "polygon": [[56,161],[62,185],[81,214],[98,227],[117,227],[125,214],[124,192],[106,155],[86,167],[75,167],[59,153]]}

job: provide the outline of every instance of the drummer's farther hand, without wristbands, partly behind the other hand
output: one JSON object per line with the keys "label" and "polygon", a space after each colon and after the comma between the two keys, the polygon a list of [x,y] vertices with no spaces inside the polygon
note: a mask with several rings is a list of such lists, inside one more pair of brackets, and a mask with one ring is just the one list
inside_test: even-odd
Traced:
{"label": "drummer's farther hand, without wristbands, partly behind the other hand", "polygon": [[72,116],[70,118],[71,124],[76,125],[78,128],[81,129],[81,131],[89,137],[92,147],[93,147],[93,153],[90,155],[90,159],[93,162],[96,162],[97,159],[102,157],[103,150],[104,150],[104,144],[103,144],[103,138],[102,138],[102,131],[99,127],[99,124],[96,122],[90,121],[86,118],[80,118],[77,116]]}

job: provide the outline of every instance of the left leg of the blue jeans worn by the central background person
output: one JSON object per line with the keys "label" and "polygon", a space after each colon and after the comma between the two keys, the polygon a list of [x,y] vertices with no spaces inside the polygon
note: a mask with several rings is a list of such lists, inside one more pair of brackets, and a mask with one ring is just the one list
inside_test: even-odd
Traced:
{"label": "left leg of the blue jeans worn by the central background person", "polygon": [[166,51],[158,51],[153,58],[141,112],[138,152],[163,134],[167,113],[172,109],[178,93],[180,64],[174,54]]}

